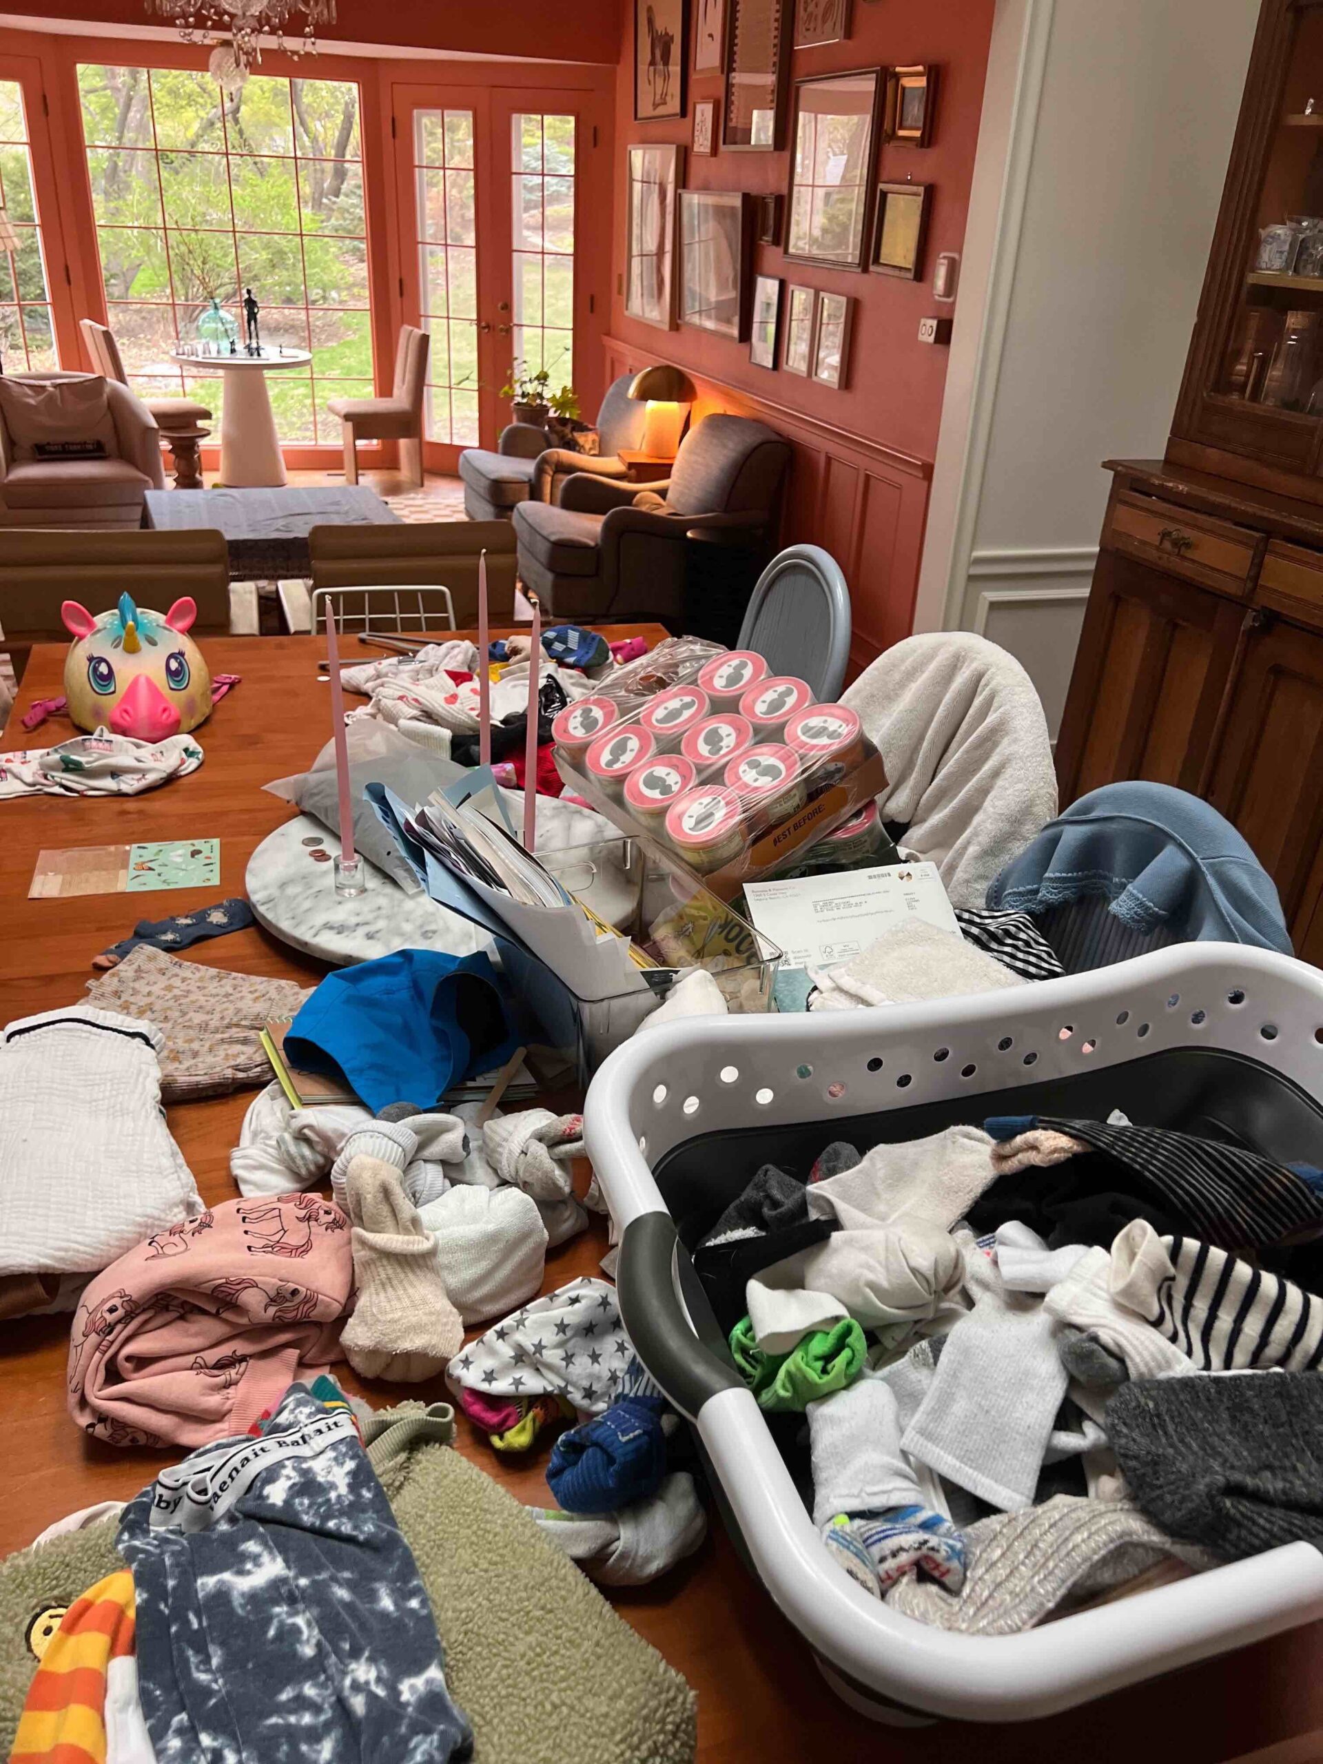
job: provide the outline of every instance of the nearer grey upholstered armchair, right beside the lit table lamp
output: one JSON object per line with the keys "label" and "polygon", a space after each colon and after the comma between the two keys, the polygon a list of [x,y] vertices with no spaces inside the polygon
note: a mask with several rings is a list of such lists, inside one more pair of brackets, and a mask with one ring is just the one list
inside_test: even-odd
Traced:
{"label": "nearer grey upholstered armchair, right beside the lit table lamp", "polygon": [[524,586],[557,619],[681,617],[690,547],[721,538],[767,550],[789,464],[789,445],[766,423],[707,416],[658,483],[575,473],[559,506],[515,508]]}

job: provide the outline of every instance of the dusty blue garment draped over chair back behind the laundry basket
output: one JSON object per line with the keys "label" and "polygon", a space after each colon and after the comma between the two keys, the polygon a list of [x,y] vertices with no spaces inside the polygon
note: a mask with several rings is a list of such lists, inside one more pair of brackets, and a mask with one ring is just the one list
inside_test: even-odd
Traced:
{"label": "dusty blue garment draped over chair back behind the laundry basket", "polygon": [[1110,783],[1073,803],[988,889],[988,905],[1041,914],[1104,894],[1138,931],[1291,954],[1277,889],[1215,808],[1166,783]]}

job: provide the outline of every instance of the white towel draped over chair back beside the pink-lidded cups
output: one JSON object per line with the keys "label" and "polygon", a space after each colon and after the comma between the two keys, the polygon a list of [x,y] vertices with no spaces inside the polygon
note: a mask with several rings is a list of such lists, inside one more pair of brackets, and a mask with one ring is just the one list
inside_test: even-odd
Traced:
{"label": "white towel draped over chair back beside the pink-lidded cups", "polygon": [[884,820],[930,857],[954,907],[988,884],[1057,813],[1043,704],[1014,656],[972,632],[893,644],[841,697],[882,755]]}

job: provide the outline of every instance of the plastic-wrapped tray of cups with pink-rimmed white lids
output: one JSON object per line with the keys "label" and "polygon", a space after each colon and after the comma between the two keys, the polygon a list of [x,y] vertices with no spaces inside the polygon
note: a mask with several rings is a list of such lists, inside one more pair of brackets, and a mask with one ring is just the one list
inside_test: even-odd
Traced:
{"label": "plastic-wrapped tray of cups with pink-rimmed white lids", "polygon": [[[704,674],[711,683],[720,667],[709,662]],[[679,877],[700,875],[729,901],[746,882],[822,864],[829,836],[852,818],[859,826],[847,850],[886,848],[873,806],[886,767],[854,711],[815,704],[804,681],[780,676],[746,686],[741,711],[690,721],[693,702],[711,693],[683,684],[693,690],[663,686],[663,709],[688,723],[679,753],[658,750],[654,730],[670,720],[656,714],[612,723],[586,751],[573,736],[556,744],[570,790],[654,861]]]}

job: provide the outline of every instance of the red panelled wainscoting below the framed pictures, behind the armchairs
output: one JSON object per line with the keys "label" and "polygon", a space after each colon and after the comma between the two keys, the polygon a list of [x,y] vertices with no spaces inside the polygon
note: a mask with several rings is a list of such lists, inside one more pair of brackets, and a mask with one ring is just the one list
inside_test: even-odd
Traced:
{"label": "red panelled wainscoting below the framed pictures, behind the armchairs", "polygon": [[[665,360],[616,337],[605,339],[605,351],[609,383]],[[854,609],[850,674],[861,672],[910,635],[931,462],[721,381],[691,377],[699,388],[693,422],[714,411],[755,416],[794,448],[781,542],[822,545],[840,563]]]}

